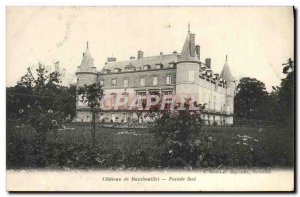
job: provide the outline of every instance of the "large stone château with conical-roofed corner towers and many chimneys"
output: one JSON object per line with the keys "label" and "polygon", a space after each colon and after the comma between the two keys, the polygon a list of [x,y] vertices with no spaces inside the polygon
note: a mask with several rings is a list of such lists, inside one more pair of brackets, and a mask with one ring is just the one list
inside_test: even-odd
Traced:
{"label": "large stone ch\u00e2teau with conical-roofed corner towers and many chimneys", "polygon": [[[160,95],[180,97],[188,95],[197,103],[206,103],[202,118],[206,124],[230,125],[233,123],[235,79],[229,69],[227,55],[221,74],[212,71],[210,58],[200,59],[200,46],[195,45],[195,34],[188,30],[181,53],[160,53],[145,57],[143,51],[127,61],[107,58],[102,70],[93,64],[87,44],[81,65],[76,72],[77,86],[100,82],[105,95],[111,95],[114,105],[116,95],[134,97],[158,92]],[[147,121],[129,110],[105,110],[99,112],[97,121],[126,122],[134,119]],[[90,109],[81,102],[76,104],[76,121],[91,121]]]}

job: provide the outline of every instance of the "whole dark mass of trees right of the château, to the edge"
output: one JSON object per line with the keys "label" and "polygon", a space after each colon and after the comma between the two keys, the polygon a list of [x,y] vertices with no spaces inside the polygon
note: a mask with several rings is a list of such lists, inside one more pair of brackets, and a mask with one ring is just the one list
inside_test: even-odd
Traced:
{"label": "whole dark mass of trees right of the ch\u00e2teau, to the edge", "polygon": [[245,77],[240,80],[234,100],[238,118],[294,125],[294,61],[289,58],[282,65],[286,77],[281,79],[280,86],[272,87],[271,93],[267,93],[264,83],[257,79]]}

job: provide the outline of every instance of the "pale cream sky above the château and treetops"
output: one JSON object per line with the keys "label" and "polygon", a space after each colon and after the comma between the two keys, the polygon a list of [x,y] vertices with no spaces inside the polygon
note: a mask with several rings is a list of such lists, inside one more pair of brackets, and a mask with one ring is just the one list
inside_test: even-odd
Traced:
{"label": "pale cream sky above the ch\u00e2teau and treetops", "polygon": [[64,84],[76,82],[86,42],[100,70],[109,56],[128,60],[180,52],[188,23],[220,73],[225,56],[232,74],[279,85],[282,63],[294,57],[292,7],[8,7],[7,86],[30,65],[59,61]]}

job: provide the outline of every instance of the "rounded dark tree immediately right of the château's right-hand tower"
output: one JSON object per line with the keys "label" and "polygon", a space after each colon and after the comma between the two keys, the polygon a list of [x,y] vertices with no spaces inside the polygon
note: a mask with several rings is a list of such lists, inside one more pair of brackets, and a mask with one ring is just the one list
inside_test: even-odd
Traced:
{"label": "rounded dark tree immediately right of the ch\u00e2teau's right-hand tower", "polygon": [[266,119],[267,96],[263,82],[255,78],[242,78],[237,85],[237,94],[234,98],[234,113],[245,119]]}

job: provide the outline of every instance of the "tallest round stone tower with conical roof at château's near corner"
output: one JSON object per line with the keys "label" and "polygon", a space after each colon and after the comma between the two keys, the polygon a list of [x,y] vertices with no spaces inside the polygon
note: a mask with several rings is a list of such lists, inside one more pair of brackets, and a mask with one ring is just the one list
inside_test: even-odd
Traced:
{"label": "tallest round stone tower with conical roof at ch\u00e2teau's near corner", "polygon": [[182,51],[176,62],[176,97],[177,102],[183,96],[193,98],[199,103],[199,55],[195,50],[195,34],[188,30]]}

